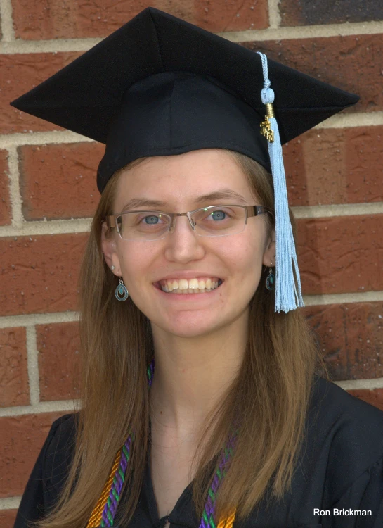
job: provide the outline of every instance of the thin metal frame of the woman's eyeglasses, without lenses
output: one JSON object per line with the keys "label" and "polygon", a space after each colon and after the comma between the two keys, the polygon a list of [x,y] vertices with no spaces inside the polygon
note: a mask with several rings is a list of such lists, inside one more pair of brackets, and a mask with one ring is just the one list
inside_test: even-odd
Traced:
{"label": "thin metal frame of the woman's eyeglasses, without lenses", "polygon": [[[214,207],[242,207],[243,209],[245,209],[245,213],[246,213],[245,214],[245,226],[247,225],[247,218],[252,218],[253,216],[258,216],[258,215],[264,215],[266,213],[270,213],[271,215],[273,215],[272,211],[270,209],[266,208],[265,206],[258,206],[257,204],[254,204],[254,206],[242,206],[242,205],[240,205],[238,203],[231,203],[231,204],[226,203],[224,205],[200,207],[200,208],[192,210],[192,211],[186,211],[185,213],[165,213],[164,211],[155,210],[155,209],[123,211],[122,213],[117,213],[116,215],[107,215],[107,216],[105,216],[105,222],[106,222],[106,225],[108,227],[116,227],[117,228],[117,233],[119,234],[119,237],[122,240],[129,241],[130,239],[123,239],[122,236],[121,236],[121,233],[119,232],[119,227],[117,225],[117,220],[116,220],[119,216],[126,215],[126,214],[129,214],[129,213],[161,213],[162,215],[169,216],[170,217],[169,229],[165,232],[166,234],[164,235],[164,237],[161,237],[159,239],[145,240],[146,242],[154,242],[155,240],[162,240],[165,237],[167,237],[167,235],[171,232],[171,230],[174,227],[174,218],[176,216],[187,216],[188,220],[189,220],[189,225],[192,228],[192,230],[195,232],[195,227],[194,227],[195,226],[195,222],[193,222],[193,220],[190,218],[190,215],[193,215],[193,213],[197,213],[200,210],[212,209]],[[243,230],[245,230],[245,227],[243,228]],[[242,231],[240,231],[240,233],[242,233]],[[227,235],[224,235],[224,234],[203,235],[203,234],[198,234],[197,233],[197,237],[204,237],[204,236],[205,237],[224,237],[224,236],[227,236]],[[134,239],[134,240],[136,240],[136,239]]]}

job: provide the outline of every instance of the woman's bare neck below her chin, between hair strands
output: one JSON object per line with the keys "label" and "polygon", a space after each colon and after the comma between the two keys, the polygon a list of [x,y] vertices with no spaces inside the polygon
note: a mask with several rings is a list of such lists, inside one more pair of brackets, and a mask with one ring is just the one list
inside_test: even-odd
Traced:
{"label": "woman's bare neck below her chin, between hair strands", "polygon": [[152,324],[152,425],[178,439],[195,436],[238,375],[247,344],[247,315],[212,334],[192,338],[169,334]]}

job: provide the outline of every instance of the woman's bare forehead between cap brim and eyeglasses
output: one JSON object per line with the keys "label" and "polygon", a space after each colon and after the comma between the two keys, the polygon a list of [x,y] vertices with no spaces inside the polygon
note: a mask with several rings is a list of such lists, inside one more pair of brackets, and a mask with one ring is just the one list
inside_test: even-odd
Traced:
{"label": "woman's bare forehead between cap brim and eyeglasses", "polygon": [[145,197],[152,206],[195,203],[197,207],[203,196],[213,193],[216,199],[231,199],[232,203],[252,200],[247,177],[235,159],[222,149],[201,149],[176,156],[155,156],[123,170],[115,206],[122,210],[127,201]]}

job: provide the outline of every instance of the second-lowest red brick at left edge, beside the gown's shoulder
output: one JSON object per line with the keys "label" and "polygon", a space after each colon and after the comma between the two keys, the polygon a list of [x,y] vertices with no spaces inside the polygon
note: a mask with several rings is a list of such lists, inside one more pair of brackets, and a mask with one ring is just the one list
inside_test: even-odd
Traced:
{"label": "second-lowest red brick at left edge, beside the gown's shoulder", "polygon": [[52,423],[64,414],[0,418],[0,497],[22,495]]}

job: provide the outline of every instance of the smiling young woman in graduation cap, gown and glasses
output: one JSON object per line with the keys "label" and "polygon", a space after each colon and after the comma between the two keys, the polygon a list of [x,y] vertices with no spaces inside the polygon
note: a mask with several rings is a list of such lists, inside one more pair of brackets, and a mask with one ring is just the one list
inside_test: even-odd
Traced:
{"label": "smiling young woman in graduation cap, gown and glasses", "polygon": [[330,382],[299,309],[280,156],[357,99],[148,8],[13,102],[106,143],[82,407],[15,528],[383,525],[383,413]]}

